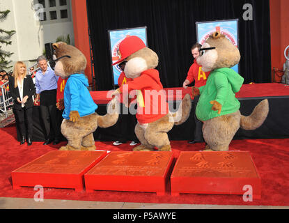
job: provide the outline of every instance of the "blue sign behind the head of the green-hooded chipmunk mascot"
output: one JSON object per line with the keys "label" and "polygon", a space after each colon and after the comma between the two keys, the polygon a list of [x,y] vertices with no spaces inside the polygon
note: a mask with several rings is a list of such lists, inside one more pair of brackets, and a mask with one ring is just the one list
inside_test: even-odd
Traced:
{"label": "blue sign behind the head of the green-hooded chipmunk mascot", "polygon": [[[228,38],[228,40],[238,47],[239,33],[238,33],[238,20],[222,20],[213,22],[196,22],[196,33],[198,43],[203,45],[205,40],[214,33],[220,31]],[[238,72],[238,64],[232,68],[235,72]]]}

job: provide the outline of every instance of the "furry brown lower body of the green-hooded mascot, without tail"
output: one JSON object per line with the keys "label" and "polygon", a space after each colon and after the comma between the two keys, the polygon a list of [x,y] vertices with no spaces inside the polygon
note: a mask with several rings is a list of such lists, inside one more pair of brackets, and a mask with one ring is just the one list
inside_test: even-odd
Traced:
{"label": "furry brown lower body of the green-hooded mascot, without tail", "polygon": [[203,123],[203,137],[208,144],[206,150],[228,151],[229,144],[240,128],[240,112],[212,118]]}

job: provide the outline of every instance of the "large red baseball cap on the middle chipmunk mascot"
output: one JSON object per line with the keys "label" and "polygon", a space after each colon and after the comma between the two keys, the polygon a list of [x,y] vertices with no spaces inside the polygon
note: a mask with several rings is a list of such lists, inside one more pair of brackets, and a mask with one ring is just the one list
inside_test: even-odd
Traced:
{"label": "large red baseball cap on the middle chipmunk mascot", "polygon": [[118,47],[118,51],[120,54],[120,59],[113,63],[112,65],[116,65],[122,62],[127,56],[132,55],[139,49],[143,49],[146,45],[143,43],[143,40],[137,36],[127,36],[123,41],[120,42]]}

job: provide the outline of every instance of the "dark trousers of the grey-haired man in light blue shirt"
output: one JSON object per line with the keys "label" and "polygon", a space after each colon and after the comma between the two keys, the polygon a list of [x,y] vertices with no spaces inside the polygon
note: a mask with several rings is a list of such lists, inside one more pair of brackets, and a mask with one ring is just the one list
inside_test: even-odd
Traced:
{"label": "dark trousers of the grey-haired man in light blue shirt", "polygon": [[40,93],[40,116],[44,125],[45,139],[61,138],[60,111],[56,108],[56,90]]}

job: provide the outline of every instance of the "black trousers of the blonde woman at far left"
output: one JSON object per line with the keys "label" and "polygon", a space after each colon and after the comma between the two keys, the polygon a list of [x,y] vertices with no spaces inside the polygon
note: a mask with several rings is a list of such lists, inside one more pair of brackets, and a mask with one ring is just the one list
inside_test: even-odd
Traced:
{"label": "black trousers of the blonde woman at far left", "polygon": [[[17,122],[17,126],[19,127],[20,134],[22,137],[29,137],[32,139],[33,135],[33,107],[23,107],[21,110],[13,110],[15,114],[15,120]],[[26,129],[27,126],[27,129]]]}

